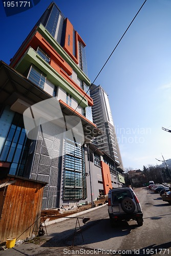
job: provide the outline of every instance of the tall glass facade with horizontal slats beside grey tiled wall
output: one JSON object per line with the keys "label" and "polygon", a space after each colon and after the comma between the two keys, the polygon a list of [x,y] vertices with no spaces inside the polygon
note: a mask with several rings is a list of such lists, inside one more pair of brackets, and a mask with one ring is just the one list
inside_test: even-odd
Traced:
{"label": "tall glass facade with horizontal slats beside grey tiled wall", "polygon": [[63,200],[84,199],[86,198],[84,149],[67,139],[65,153]]}

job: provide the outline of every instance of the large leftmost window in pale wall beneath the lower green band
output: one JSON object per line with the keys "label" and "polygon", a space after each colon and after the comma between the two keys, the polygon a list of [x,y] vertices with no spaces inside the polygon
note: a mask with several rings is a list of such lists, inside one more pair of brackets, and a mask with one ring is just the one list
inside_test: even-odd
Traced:
{"label": "large leftmost window in pale wall beneath the lower green band", "polygon": [[28,79],[37,84],[38,87],[44,89],[46,76],[40,70],[35,67],[31,67]]}

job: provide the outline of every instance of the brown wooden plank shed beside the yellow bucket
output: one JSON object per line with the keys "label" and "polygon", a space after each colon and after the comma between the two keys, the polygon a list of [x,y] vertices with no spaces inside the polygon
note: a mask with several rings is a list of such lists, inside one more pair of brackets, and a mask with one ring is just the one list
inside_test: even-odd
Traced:
{"label": "brown wooden plank shed beside the yellow bucket", "polygon": [[36,234],[46,182],[7,175],[0,180],[0,243]]}

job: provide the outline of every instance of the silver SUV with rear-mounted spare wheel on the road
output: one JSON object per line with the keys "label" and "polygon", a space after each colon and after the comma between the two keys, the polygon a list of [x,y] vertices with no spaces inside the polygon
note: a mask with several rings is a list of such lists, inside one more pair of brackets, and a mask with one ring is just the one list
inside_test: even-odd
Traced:
{"label": "silver SUV with rear-mounted spare wheel on the road", "polygon": [[120,220],[136,220],[138,226],[143,224],[141,205],[132,188],[124,187],[109,190],[108,212],[112,225]]}

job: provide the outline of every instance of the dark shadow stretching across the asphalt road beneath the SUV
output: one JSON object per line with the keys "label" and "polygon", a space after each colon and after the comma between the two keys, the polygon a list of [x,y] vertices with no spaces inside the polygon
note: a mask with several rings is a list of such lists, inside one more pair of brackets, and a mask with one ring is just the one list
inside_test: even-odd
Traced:
{"label": "dark shadow stretching across the asphalt road beneath the SUV", "polygon": [[[93,244],[101,241],[107,241],[115,237],[124,237],[132,229],[140,228],[135,221],[121,221],[119,225],[112,227],[109,219],[90,221],[77,230],[74,238],[75,228],[63,232],[51,234],[51,239],[41,245],[41,247],[62,247],[72,245]],[[82,236],[81,236],[82,234]]]}

